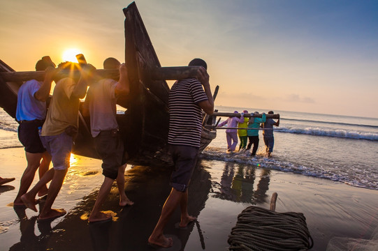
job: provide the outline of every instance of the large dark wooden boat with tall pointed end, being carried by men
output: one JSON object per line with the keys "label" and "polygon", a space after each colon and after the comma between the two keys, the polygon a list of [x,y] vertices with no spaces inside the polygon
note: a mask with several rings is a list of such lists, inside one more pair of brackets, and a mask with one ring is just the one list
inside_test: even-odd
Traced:
{"label": "large dark wooden boat with tall pointed end, being carried by men", "polygon": [[[140,17],[136,3],[124,8],[125,62],[131,82],[129,96],[119,98],[126,108],[117,114],[124,138],[128,163],[131,165],[170,166],[168,138],[168,79],[194,77],[198,67],[161,67],[151,40]],[[103,76],[117,75],[114,70],[98,70]],[[17,91],[23,81],[43,79],[44,72],[18,72],[0,61],[0,106],[13,118]],[[211,120],[213,120],[211,118]],[[201,150],[217,135],[216,130],[203,128]],[[79,133],[73,153],[98,158],[89,132],[89,120],[79,113]]]}

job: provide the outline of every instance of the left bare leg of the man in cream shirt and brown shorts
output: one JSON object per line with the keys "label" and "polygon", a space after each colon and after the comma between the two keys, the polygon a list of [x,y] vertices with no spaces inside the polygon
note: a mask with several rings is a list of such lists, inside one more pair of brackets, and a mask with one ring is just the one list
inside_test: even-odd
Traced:
{"label": "left bare leg of the man in cream shirt and brown shorts", "polygon": [[96,202],[94,203],[92,213],[91,215],[89,215],[89,222],[98,222],[101,220],[109,220],[110,218],[112,218],[111,215],[102,213],[100,211],[100,207],[106,200],[106,197],[108,197],[113,182],[114,180],[112,178],[105,177],[103,184],[101,185],[101,188],[99,190],[99,195],[97,195]]}

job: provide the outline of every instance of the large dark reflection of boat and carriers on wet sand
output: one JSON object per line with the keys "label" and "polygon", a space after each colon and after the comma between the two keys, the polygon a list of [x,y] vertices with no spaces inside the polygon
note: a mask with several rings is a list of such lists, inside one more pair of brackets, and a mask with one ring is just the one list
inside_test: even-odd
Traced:
{"label": "large dark reflection of boat and carriers on wet sand", "polygon": [[[23,211],[16,211],[20,218],[22,238],[11,250],[150,250],[147,238],[159,219],[163,203],[170,192],[170,170],[157,170],[150,167],[133,167],[125,173],[126,193],[135,202],[133,206],[119,207],[117,188],[114,186],[106,201],[106,208],[117,213],[116,221],[89,224],[83,215],[87,215],[96,199],[93,192],[82,198],[53,228],[45,226],[41,235],[34,234],[36,216],[27,219]],[[210,174],[197,165],[189,185],[190,215],[198,217],[205,206],[211,188]],[[173,248],[166,250],[184,250],[194,227],[202,236],[198,222],[185,228],[178,227],[180,208],[171,217],[164,231],[175,241]],[[38,224],[38,228],[39,228]],[[49,228],[50,227],[50,228]],[[59,229],[64,229],[61,231]],[[205,247],[201,238],[201,246]]]}

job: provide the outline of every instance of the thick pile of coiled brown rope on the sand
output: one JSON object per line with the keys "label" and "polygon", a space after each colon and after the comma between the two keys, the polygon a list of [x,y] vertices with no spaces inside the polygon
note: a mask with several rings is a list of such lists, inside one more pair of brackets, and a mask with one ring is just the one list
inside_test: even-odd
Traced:
{"label": "thick pile of coiled brown rope on the sand", "polygon": [[309,250],[314,244],[303,213],[277,213],[249,206],[238,215],[228,250]]}

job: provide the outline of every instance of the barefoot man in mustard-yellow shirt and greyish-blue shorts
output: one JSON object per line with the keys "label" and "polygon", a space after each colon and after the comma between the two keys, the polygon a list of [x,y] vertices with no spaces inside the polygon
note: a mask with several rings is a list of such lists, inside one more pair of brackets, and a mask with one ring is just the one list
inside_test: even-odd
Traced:
{"label": "barefoot man in mustard-yellow shirt and greyish-blue shorts", "polygon": [[37,192],[49,181],[48,197],[41,209],[38,220],[52,220],[66,214],[64,209],[54,209],[52,204],[57,198],[61,185],[70,167],[71,149],[73,139],[78,132],[78,112],[80,98],[87,93],[87,85],[92,81],[94,67],[90,65],[79,66],[78,64],[65,62],[58,66],[59,69],[80,70],[80,79],[64,77],[60,79],[52,94],[52,100],[43,123],[41,142],[52,156],[54,168],[36,183],[34,188],[22,195],[24,204],[33,211],[37,211],[34,200]]}

